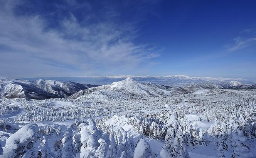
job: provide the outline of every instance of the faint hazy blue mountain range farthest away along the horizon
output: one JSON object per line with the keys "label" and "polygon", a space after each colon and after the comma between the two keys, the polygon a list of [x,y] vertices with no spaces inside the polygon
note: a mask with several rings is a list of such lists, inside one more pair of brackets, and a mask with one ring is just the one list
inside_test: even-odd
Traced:
{"label": "faint hazy blue mountain range farthest away along the horizon", "polygon": [[[114,81],[125,80],[127,77],[140,82],[152,82],[161,85],[187,85],[189,83],[216,83],[221,86],[228,86],[231,81],[238,81],[242,85],[255,84],[254,80],[246,80],[243,78],[223,78],[223,77],[189,77],[185,75],[172,75],[172,76],[90,76],[90,77],[45,77],[43,79],[51,79],[57,81],[74,81],[78,83],[89,83],[95,85],[111,84]],[[39,78],[26,78],[27,80],[38,80]]]}

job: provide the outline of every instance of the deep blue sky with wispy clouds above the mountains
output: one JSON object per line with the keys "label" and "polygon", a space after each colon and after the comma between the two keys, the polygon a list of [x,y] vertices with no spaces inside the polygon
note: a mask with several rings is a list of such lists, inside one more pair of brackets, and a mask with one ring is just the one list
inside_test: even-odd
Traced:
{"label": "deep blue sky with wispy clouds above the mountains", "polygon": [[256,77],[256,1],[0,4],[0,77]]}

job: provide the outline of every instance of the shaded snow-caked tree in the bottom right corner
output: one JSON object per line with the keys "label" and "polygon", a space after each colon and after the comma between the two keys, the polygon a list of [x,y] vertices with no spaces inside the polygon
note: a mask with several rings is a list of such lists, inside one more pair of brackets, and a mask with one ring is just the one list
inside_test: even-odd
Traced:
{"label": "shaded snow-caked tree in the bottom right corner", "polygon": [[234,150],[232,151],[231,158],[255,158],[251,149],[247,144],[247,138],[244,136],[243,131],[238,130],[237,134],[233,133]]}

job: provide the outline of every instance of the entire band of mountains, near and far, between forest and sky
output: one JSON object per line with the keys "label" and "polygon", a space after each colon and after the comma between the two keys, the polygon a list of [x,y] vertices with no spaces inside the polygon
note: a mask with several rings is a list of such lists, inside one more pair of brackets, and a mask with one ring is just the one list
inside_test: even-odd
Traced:
{"label": "entire band of mountains, near and far, between forest and sky", "polygon": [[[102,86],[81,84],[72,81],[62,82],[44,79],[29,81],[17,80],[13,78],[3,78],[0,79],[0,98],[78,98],[80,96],[88,95],[93,92],[101,93],[101,95],[102,93],[109,93],[109,95],[112,95],[113,93],[118,93],[118,95],[123,97],[129,96],[130,98],[132,98],[134,96],[138,98],[142,97],[142,95],[145,97],[165,97],[167,95],[167,91],[168,93],[171,91],[174,93],[190,93],[200,89],[256,89],[255,83],[248,84],[253,83],[253,81],[248,81],[240,78],[236,78],[236,80],[234,80],[234,78],[200,78],[188,77],[184,75],[166,77],[131,76],[123,79],[124,77],[126,76],[86,77],[86,79],[94,79],[94,82],[99,81],[102,83],[114,80],[113,83]],[[81,78],[84,79],[85,77]],[[111,91],[111,93],[109,91]]]}

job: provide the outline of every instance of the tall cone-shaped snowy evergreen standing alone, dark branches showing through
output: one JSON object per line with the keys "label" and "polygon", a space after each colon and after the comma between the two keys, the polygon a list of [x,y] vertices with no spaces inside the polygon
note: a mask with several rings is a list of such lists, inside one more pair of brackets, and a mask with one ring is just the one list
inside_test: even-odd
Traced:
{"label": "tall cone-shaped snowy evergreen standing alone, dark branches showing through", "polygon": [[165,136],[165,143],[160,152],[162,158],[189,158],[185,142],[183,139],[181,127],[178,125],[175,113],[170,106],[167,108],[167,135]]}

